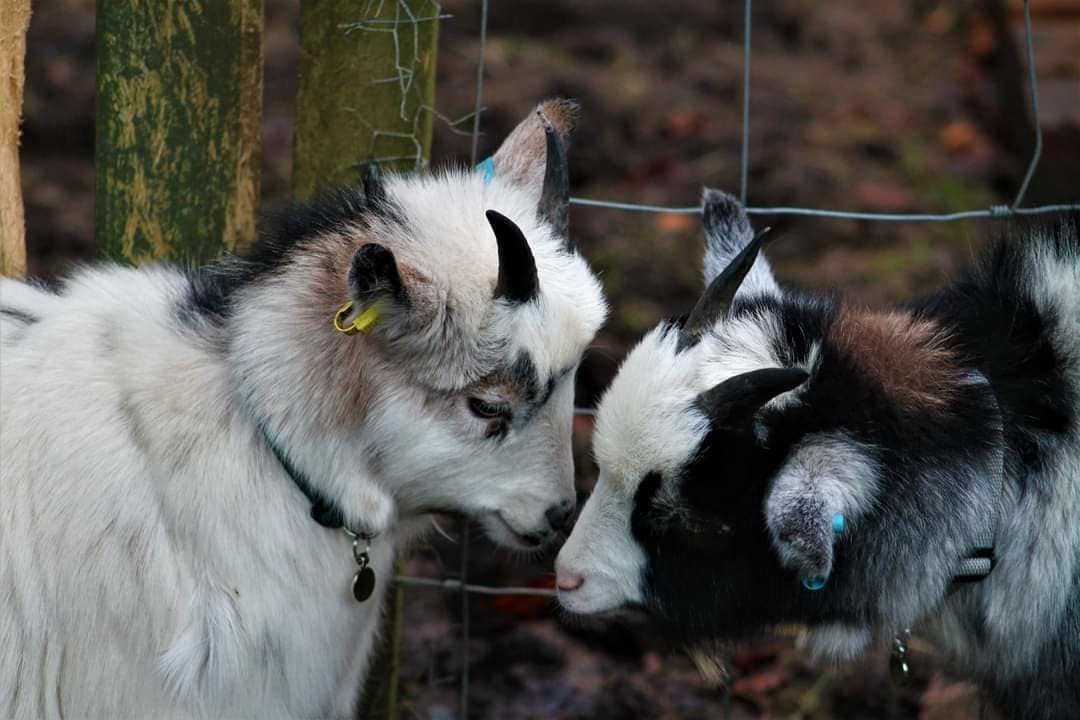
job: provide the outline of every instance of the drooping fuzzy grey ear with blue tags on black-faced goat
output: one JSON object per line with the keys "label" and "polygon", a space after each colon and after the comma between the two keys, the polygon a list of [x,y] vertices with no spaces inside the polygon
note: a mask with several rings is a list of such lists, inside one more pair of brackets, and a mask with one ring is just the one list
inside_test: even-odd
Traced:
{"label": "drooping fuzzy grey ear with blue tags on black-faced goat", "polygon": [[766,524],[784,567],[818,589],[833,572],[834,545],[877,493],[873,450],[837,434],[807,436],[772,479]]}

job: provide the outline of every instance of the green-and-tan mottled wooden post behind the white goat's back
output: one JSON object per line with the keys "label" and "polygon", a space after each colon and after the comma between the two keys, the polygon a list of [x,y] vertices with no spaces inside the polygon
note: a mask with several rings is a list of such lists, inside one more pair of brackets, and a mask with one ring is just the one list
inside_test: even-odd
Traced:
{"label": "green-and-tan mottled wooden post behind the white goat's back", "polygon": [[261,111],[262,0],[99,0],[99,252],[198,263],[254,240]]}

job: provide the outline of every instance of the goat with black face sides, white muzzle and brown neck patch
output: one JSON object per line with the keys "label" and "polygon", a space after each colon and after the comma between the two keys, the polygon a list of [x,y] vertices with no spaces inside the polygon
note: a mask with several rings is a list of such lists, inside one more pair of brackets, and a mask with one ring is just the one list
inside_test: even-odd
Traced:
{"label": "goat with black face sides, white muzzle and brown neck patch", "polygon": [[1078,220],[876,312],[781,290],[706,191],[711,283],[599,405],[563,606],[643,604],[691,646],[805,623],[833,657],[919,625],[1010,717],[1077,717]]}

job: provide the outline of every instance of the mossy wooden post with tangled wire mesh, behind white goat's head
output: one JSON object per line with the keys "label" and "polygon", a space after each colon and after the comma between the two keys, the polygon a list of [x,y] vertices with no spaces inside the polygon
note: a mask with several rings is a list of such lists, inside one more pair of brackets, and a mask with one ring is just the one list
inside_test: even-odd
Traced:
{"label": "mossy wooden post with tangled wire mesh, behind white goat's head", "polygon": [[[440,6],[432,0],[301,0],[293,193],[359,184],[364,165],[424,167]],[[397,563],[401,571],[402,563]],[[360,715],[396,720],[403,596],[393,590]]]}

